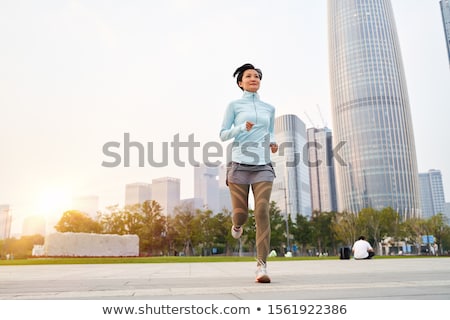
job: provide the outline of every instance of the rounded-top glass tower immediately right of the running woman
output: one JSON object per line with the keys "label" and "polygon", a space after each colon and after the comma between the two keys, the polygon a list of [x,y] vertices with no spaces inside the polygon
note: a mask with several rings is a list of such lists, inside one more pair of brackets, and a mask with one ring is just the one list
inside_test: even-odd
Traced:
{"label": "rounded-top glass tower immediately right of the running woman", "polygon": [[272,155],[276,178],[273,182],[271,200],[281,212],[291,215],[311,215],[311,192],[309,170],[305,159],[306,126],[293,114],[275,119],[275,140],[278,152]]}

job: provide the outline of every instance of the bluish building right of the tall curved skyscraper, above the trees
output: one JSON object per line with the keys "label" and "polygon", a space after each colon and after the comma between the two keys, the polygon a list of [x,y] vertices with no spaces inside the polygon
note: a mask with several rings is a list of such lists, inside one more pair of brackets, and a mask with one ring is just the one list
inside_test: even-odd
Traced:
{"label": "bluish building right of the tall curved skyscraper, above the trees", "polygon": [[440,170],[428,170],[419,174],[422,218],[445,213],[445,194]]}

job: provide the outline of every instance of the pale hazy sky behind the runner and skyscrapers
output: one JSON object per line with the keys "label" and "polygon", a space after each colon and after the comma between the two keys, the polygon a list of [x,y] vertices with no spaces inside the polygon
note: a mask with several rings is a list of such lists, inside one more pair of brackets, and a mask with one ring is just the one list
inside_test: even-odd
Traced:
{"label": "pale hazy sky behind the runner and skyscrapers", "polygon": [[[391,3],[418,169],[441,170],[449,202],[439,1]],[[193,197],[192,163],[224,161],[222,116],[247,62],[262,69],[259,94],[277,116],[332,128],[327,36],[325,0],[0,1],[0,204],[12,232],[25,216],[60,216],[73,197],[123,206],[127,183],[175,177],[181,198]],[[130,147],[127,165],[127,139],[167,162],[142,165]]]}

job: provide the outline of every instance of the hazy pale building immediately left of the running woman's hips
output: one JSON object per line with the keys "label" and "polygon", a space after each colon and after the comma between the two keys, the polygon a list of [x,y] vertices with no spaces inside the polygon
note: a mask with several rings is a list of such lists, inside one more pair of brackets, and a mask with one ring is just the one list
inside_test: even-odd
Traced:
{"label": "hazy pale building immediately left of the running woman's hips", "polygon": [[219,167],[200,164],[194,167],[194,198],[202,199],[200,209],[209,209],[218,213],[219,203]]}

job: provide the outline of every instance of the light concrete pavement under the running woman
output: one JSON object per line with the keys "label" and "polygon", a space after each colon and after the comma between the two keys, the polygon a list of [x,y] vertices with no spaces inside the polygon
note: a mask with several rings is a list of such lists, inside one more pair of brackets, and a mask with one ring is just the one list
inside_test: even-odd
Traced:
{"label": "light concrete pavement under the running woman", "polygon": [[449,300],[450,258],[0,266],[0,300]]}

